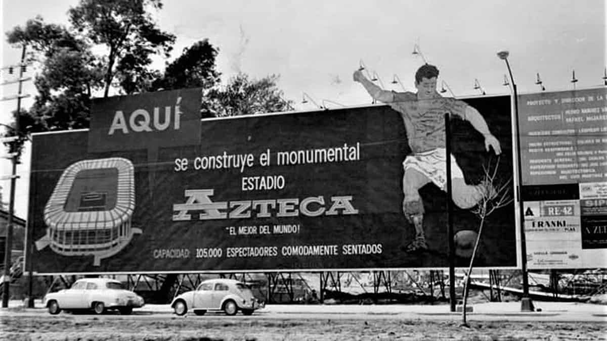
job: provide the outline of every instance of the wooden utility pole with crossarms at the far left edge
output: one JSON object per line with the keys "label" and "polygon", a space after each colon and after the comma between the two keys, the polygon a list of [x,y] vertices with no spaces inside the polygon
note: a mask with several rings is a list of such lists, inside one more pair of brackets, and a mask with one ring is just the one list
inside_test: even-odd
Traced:
{"label": "wooden utility pole with crossarms at the far left edge", "polygon": [[[12,265],[11,254],[13,248],[13,215],[15,212],[15,186],[17,175],[17,163],[18,163],[18,146],[19,146],[19,114],[21,113],[21,98],[24,97],[21,94],[23,86],[23,73],[25,71],[25,45],[21,50],[21,64],[19,65],[19,90],[16,96],[17,100],[17,112],[15,118],[14,132],[16,138],[10,141],[10,153],[12,154],[13,170],[10,175],[10,198],[8,203],[8,222],[6,226],[6,245],[4,250],[4,276],[2,277],[2,308],[8,308],[8,299],[10,295],[10,268]],[[11,98],[12,99],[12,98]]]}

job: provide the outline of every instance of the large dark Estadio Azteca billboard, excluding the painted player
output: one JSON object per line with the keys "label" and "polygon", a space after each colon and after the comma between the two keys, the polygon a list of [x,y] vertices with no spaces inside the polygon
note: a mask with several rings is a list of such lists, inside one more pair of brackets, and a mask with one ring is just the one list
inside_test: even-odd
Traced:
{"label": "large dark Estadio Azteca billboard, excluding the painted player", "polygon": [[[175,105],[170,97],[166,106]],[[454,118],[453,155],[466,182],[484,180],[483,164],[497,166],[496,181],[509,180],[509,96],[465,102],[483,115],[502,149],[499,158],[487,152],[483,135]],[[170,144],[153,131],[130,129],[135,140],[149,143],[96,145],[104,143],[115,113],[125,118],[115,122],[129,124],[136,107],[103,104],[109,123],[100,125],[101,132],[33,136],[29,221],[35,272],[449,265],[446,194],[433,183],[419,190],[428,248],[407,249],[416,234],[402,211],[402,178],[403,161],[412,152],[401,114],[391,107],[202,120],[197,136]],[[141,120],[135,118],[133,126]],[[511,197],[512,184],[507,186]],[[476,266],[517,266],[514,212],[509,203],[486,218]],[[473,209],[456,207],[454,215],[456,232],[478,231],[481,220]],[[469,262],[470,241],[459,241],[464,249],[458,266]]]}

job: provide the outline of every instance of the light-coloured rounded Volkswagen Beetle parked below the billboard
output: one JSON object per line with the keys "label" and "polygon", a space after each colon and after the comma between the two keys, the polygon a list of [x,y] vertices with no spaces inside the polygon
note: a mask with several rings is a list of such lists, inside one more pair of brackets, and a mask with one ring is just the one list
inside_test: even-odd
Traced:
{"label": "light-coloured rounded Volkswagen Beetle parked below the billboard", "polygon": [[239,310],[251,315],[256,309],[263,308],[253,292],[244,283],[229,279],[205,280],[193,291],[178,295],[171,302],[175,314],[185,315],[188,310],[196,315],[206,311],[223,311],[226,315],[235,315]]}

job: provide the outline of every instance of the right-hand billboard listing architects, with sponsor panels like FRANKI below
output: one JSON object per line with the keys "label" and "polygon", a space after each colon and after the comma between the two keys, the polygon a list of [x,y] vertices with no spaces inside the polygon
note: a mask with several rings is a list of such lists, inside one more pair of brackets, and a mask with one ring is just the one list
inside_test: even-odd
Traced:
{"label": "right-hand billboard listing architects, with sponsor panels like FRANKI below", "polygon": [[607,89],[520,96],[530,269],[607,266]]}

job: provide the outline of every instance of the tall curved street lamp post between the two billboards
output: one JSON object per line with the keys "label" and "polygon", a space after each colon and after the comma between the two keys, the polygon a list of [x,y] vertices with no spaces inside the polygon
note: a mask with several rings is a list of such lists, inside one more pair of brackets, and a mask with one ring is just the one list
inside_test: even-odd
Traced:
{"label": "tall curved street lamp post between the two billboards", "polygon": [[497,53],[497,56],[503,61],[506,62],[506,67],[508,68],[508,73],[510,74],[510,83],[512,84],[512,92],[514,93],[514,119],[516,121],[516,141],[517,148],[515,152],[517,153],[517,178],[518,178],[518,189],[517,189],[517,197],[518,197],[518,218],[520,225],[520,233],[521,233],[521,272],[523,272],[523,298],[521,299],[521,311],[534,311],[533,302],[531,298],[529,298],[529,279],[527,277],[527,247],[525,240],[525,221],[524,221],[524,208],[523,208],[523,167],[521,166],[521,129],[520,123],[518,121],[518,93],[517,93],[517,84],[514,83],[514,78],[512,77],[512,69],[510,69],[510,63],[508,62],[508,56],[510,53],[508,51],[500,51]]}

